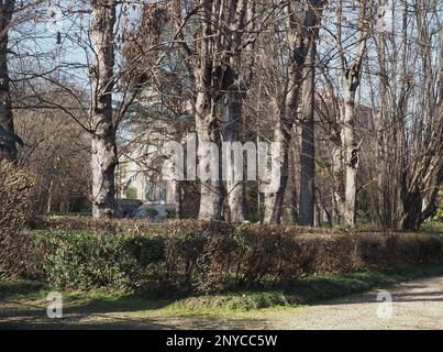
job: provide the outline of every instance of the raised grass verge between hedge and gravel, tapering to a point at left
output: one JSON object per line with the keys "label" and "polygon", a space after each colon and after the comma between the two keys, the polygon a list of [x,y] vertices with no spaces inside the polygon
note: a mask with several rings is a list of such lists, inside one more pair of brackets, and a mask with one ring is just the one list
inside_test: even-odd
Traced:
{"label": "raised grass verge between hedge and gravel, tapering to a point at left", "polygon": [[269,307],[295,307],[364,293],[374,288],[388,287],[413,278],[441,275],[442,273],[442,265],[428,265],[342,275],[310,276],[290,286],[274,289],[187,297],[175,301],[168,309],[197,315]]}

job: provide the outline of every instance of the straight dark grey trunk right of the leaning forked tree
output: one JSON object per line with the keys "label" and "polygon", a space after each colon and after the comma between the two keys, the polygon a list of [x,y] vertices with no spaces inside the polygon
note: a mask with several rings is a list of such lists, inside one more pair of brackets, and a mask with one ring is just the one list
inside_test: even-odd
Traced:
{"label": "straight dark grey trunk right of the leaning forked tree", "polygon": [[314,140],[314,103],[315,103],[315,41],[312,41],[304,68],[304,82],[301,108],[301,155],[300,155],[300,205],[298,223],[312,227],[314,224],[314,176],[315,176],[315,140]]}

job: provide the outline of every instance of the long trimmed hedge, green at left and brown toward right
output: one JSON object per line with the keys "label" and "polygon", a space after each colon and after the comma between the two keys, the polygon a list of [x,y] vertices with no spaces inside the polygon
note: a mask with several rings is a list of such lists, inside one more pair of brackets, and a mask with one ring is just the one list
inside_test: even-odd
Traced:
{"label": "long trimmed hedge, green at left and brown toward right", "polygon": [[[218,293],[292,283],[312,274],[401,267],[443,258],[442,241],[420,233],[232,227],[192,220],[160,226],[107,220],[99,224],[78,218],[69,223],[69,231],[57,230],[64,223],[46,219],[49,229],[33,234],[36,250],[32,262],[40,264],[34,265],[32,275],[62,288]],[[92,230],[86,231],[89,226]]]}

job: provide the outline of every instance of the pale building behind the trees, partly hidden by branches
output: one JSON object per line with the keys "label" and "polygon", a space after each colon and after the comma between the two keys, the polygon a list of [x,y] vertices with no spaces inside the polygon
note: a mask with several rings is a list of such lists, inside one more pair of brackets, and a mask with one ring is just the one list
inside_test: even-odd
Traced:
{"label": "pale building behind the trees, partly hidden by branches", "polygon": [[124,135],[119,139],[117,197],[143,204],[133,211],[135,217],[174,217],[179,208],[177,201],[181,199],[177,194],[178,182],[162,179],[162,166],[165,143],[184,140],[192,125],[192,105],[185,98],[177,99],[186,95],[180,92],[170,74],[164,73],[164,76],[162,87],[145,89],[140,95],[129,112]]}

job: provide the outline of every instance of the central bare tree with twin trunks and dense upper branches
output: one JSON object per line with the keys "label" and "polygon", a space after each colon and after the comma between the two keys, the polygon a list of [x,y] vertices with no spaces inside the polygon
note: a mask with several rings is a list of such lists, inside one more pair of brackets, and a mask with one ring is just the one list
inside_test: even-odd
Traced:
{"label": "central bare tree with twin trunks and dense upper branches", "polygon": [[[195,88],[195,121],[198,138],[197,156],[200,169],[209,169],[212,164],[211,179],[200,182],[199,219],[221,219],[226,189],[221,169],[221,155],[213,163],[208,143],[214,143],[221,151],[221,142],[234,142],[239,139],[242,118],[242,100],[247,86],[251,61],[242,53],[250,47],[254,37],[251,30],[253,21],[251,1],[199,1],[193,10],[182,14],[180,1],[175,1],[175,23],[180,40],[189,76]],[[186,35],[186,21],[191,16],[198,19],[196,35]],[[191,21],[190,21],[191,22]],[[192,26],[190,23],[189,26]],[[195,45],[188,45],[195,42]],[[246,65],[244,64],[246,63]],[[218,112],[222,101],[223,122]],[[223,131],[224,130],[224,131]],[[224,132],[224,136],[223,136]],[[217,169],[214,165],[219,165]],[[218,178],[213,179],[213,178]],[[228,172],[228,205],[231,221],[243,221],[244,188],[243,183],[234,179],[233,169]]]}

